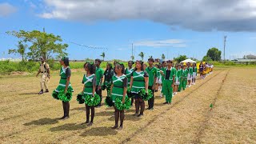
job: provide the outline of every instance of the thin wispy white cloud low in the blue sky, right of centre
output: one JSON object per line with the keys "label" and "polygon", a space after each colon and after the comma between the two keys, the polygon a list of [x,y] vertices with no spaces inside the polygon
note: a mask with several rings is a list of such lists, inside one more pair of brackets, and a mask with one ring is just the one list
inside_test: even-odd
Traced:
{"label": "thin wispy white cloud low in the blue sky, right of centre", "polygon": [[134,46],[149,46],[149,47],[162,47],[162,46],[172,46],[172,47],[186,47],[184,40],[182,39],[166,39],[166,40],[144,40],[139,42],[134,42]]}

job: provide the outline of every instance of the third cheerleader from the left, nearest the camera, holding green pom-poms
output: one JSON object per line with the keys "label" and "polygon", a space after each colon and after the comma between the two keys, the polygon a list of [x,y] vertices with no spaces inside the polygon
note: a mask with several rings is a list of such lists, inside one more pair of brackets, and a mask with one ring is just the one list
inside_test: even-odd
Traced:
{"label": "third cheerleader from the left, nearest the camera, holding green pom-poms", "polygon": [[110,89],[111,98],[114,102],[114,126],[112,129],[118,128],[118,120],[120,117],[120,126],[118,130],[122,130],[122,123],[125,118],[124,110],[130,108],[130,99],[126,96],[128,79],[125,74],[125,66],[122,63],[116,63],[114,66],[115,74],[112,76],[112,86]]}

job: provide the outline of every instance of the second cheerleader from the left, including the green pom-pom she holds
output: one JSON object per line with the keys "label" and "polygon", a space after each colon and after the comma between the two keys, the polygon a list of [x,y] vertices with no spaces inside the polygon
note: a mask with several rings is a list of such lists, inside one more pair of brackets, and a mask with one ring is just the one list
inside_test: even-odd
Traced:
{"label": "second cheerleader from the left, including the green pom-pom she holds", "polygon": [[[85,99],[86,103],[86,122],[83,124],[88,124],[87,126],[92,126],[94,123],[94,114],[95,109],[94,106],[97,106],[100,102],[100,97],[98,94],[95,94],[96,89],[96,76],[95,76],[95,70],[96,66],[94,65],[94,62],[86,62],[84,64],[84,69],[86,70],[86,74],[84,74],[82,78],[83,86],[83,98]],[[98,103],[92,104],[91,100],[96,100],[96,97],[98,98]],[[91,115],[90,115],[91,110]],[[90,117],[90,121],[89,121]]]}

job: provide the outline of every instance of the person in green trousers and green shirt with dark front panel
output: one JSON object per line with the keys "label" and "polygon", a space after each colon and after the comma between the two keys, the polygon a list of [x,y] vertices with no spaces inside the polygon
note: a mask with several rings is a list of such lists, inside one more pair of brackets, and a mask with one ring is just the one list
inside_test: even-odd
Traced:
{"label": "person in green trousers and green shirt with dark front panel", "polygon": [[176,70],[173,66],[172,61],[167,61],[167,68],[165,71],[160,71],[162,76],[164,77],[164,82],[163,85],[165,87],[164,94],[166,95],[166,102],[163,104],[171,104],[171,99],[173,98],[173,88],[174,88],[174,79],[175,79],[175,74]]}

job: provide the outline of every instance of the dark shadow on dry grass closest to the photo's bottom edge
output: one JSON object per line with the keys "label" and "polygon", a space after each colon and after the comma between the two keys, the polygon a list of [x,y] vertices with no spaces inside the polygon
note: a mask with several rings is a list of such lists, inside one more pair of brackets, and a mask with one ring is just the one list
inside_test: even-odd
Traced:
{"label": "dark shadow on dry grass closest to the photo's bottom edge", "polygon": [[117,130],[112,130],[111,127],[94,127],[90,130],[86,130],[80,136],[107,136],[107,135],[116,135],[118,134]]}

